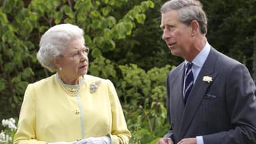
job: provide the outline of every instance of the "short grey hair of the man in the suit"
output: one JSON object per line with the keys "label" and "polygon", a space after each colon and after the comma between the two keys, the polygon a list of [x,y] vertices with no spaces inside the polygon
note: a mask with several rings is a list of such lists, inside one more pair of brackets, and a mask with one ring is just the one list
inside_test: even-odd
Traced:
{"label": "short grey hair of the man in the suit", "polygon": [[198,0],[169,0],[161,7],[161,13],[170,10],[178,11],[178,19],[185,25],[190,25],[195,20],[199,23],[201,33],[207,33],[207,17],[203,5]]}

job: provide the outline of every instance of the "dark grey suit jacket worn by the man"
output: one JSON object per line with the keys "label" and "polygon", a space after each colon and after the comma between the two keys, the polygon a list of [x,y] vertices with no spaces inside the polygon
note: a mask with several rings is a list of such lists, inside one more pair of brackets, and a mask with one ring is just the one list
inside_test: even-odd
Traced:
{"label": "dark grey suit jacket worn by the man", "polygon": [[[256,143],[255,83],[245,65],[211,48],[186,105],[184,65],[181,63],[167,77],[167,117],[171,128],[165,137],[175,143],[200,135],[205,144]],[[203,81],[204,76],[213,81]]]}

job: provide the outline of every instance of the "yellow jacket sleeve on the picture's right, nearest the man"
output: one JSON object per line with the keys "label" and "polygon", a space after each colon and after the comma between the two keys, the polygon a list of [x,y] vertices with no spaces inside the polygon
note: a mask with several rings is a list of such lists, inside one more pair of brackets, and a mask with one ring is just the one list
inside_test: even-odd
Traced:
{"label": "yellow jacket sleeve on the picture's right, nearest the man", "polygon": [[109,99],[111,101],[112,131],[109,133],[112,144],[128,144],[131,133],[127,129],[123,109],[121,107],[117,92],[111,81],[107,80]]}

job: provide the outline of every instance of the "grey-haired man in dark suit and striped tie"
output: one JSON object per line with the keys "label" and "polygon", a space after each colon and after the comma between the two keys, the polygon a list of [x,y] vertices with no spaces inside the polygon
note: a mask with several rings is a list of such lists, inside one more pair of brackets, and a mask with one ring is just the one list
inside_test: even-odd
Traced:
{"label": "grey-haired man in dark suit and striped tie", "polygon": [[171,128],[157,144],[256,143],[255,84],[245,65],[209,45],[201,3],[167,1],[161,28],[172,55],[185,61],[167,76]]}

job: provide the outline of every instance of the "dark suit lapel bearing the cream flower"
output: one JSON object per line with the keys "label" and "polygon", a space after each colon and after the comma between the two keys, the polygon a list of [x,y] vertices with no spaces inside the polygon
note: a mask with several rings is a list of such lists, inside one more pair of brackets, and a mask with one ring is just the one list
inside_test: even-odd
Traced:
{"label": "dark suit lapel bearing the cream flower", "polygon": [[217,53],[213,48],[211,48],[211,51],[205,63],[203,64],[203,67],[199,75],[197,76],[195,84],[191,90],[191,94],[187,99],[185,109],[183,111],[183,116],[181,119],[182,121],[181,123],[183,125],[181,125],[181,129],[179,133],[181,138],[185,136],[187,129],[189,129],[189,126],[193,121],[193,117],[195,117],[195,113],[197,112],[197,109],[200,106],[204,95],[207,93],[207,89],[211,85],[211,83],[207,83],[203,81],[203,77],[204,76],[212,77],[213,81],[215,77],[217,77],[217,73],[214,73],[214,66],[215,66],[216,59],[217,59]]}

